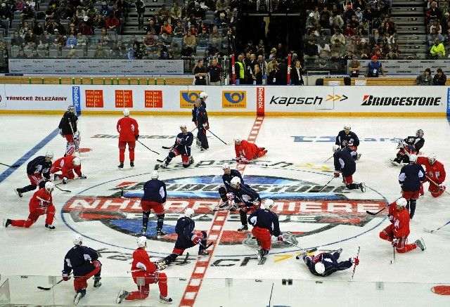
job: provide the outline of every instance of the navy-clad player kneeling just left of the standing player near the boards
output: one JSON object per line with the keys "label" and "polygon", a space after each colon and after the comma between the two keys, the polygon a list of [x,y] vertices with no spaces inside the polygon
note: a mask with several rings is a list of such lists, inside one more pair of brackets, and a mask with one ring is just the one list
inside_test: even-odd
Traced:
{"label": "navy-clad player kneeling just left of the standing player near the boards", "polygon": [[194,162],[194,158],[191,156],[191,145],[194,139],[192,132],[188,132],[186,124],[180,125],[181,133],[178,133],[174,145],[169,151],[169,155],[161,163],[162,169],[166,169],[169,163],[177,155],[181,155],[181,161],[183,167],[189,167]]}

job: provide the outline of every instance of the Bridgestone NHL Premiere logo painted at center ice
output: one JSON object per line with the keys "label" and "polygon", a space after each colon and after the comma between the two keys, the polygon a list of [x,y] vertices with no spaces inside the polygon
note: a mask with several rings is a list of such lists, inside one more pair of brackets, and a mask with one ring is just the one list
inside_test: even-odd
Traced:
{"label": "Bridgestone NHL Premiere logo painted at center ice", "polygon": [[[167,173],[169,174],[169,173]],[[132,176],[127,181],[110,181],[84,190],[72,197],[62,209],[63,219],[74,230],[87,237],[96,238],[106,244],[115,244],[112,238],[117,232],[137,236],[142,227],[142,210],[139,200],[143,195],[143,184],[148,174]],[[160,241],[174,242],[174,225],[186,207],[195,209],[196,230],[209,230],[214,213],[207,214],[219,203],[217,190],[223,184],[221,176],[192,176],[165,179],[167,202],[165,204],[165,226],[167,235]],[[354,233],[368,230],[368,223],[375,217],[366,210],[377,211],[386,202],[377,192],[368,190],[365,199],[353,199],[345,186],[327,186],[300,179],[276,176],[245,176],[245,183],[259,192],[262,199],[271,197],[275,201],[274,211],[279,216],[280,228],[290,231],[293,240],[297,237],[315,235],[336,226],[350,226]],[[124,199],[120,191],[124,190]],[[205,215],[201,217],[202,215]],[[155,216],[150,216],[147,236],[155,239]],[[106,226],[98,233],[98,223]],[[219,244],[246,244],[250,242],[245,233],[238,233],[240,226],[238,211],[230,212]],[[277,244],[274,244],[277,247]],[[279,247],[283,247],[280,244]]]}

